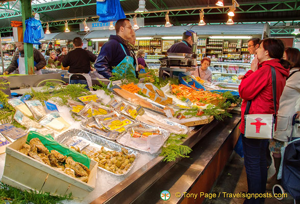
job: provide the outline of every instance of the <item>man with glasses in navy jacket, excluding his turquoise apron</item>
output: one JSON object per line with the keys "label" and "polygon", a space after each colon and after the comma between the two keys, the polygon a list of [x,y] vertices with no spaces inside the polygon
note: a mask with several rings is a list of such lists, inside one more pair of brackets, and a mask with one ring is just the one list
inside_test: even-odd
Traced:
{"label": "man with glasses in navy jacket, excluding his turquoise apron", "polygon": [[[112,69],[117,66],[125,57],[131,56],[128,48],[128,41],[132,36],[133,28],[128,19],[119,19],[115,24],[116,35],[110,35],[97,57],[94,64],[95,69],[103,77],[109,79],[112,77]],[[126,54],[124,53],[124,50]]]}

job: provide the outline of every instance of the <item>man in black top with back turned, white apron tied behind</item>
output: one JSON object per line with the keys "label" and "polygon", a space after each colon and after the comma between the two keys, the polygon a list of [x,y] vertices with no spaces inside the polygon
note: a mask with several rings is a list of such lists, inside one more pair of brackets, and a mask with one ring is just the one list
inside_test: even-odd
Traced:
{"label": "man in black top with back turned, white apron tied behind", "polygon": [[[91,70],[90,62],[95,62],[96,56],[89,50],[82,48],[83,43],[80,37],[73,39],[73,45],[74,49],[62,61],[63,67],[70,66],[70,84],[85,84],[91,87],[91,78],[88,73]],[[90,88],[90,90],[92,89]]]}

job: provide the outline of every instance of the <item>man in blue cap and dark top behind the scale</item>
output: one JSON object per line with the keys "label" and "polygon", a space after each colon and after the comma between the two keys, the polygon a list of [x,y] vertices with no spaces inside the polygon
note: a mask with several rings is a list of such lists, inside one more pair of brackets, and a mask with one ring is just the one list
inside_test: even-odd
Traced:
{"label": "man in blue cap and dark top behind the scale", "polygon": [[186,31],[182,35],[182,41],[173,44],[168,50],[167,53],[192,53],[192,33],[195,33],[192,30]]}

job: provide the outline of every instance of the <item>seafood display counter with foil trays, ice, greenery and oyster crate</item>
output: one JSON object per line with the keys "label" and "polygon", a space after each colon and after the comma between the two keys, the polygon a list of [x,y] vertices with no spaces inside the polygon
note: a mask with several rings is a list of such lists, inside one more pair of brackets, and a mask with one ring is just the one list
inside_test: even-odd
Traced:
{"label": "seafood display counter with foil trays, ice, greenery and oyster crate", "polygon": [[[155,76],[146,76],[146,78],[151,80]],[[51,133],[52,137],[47,136],[47,140],[54,142],[55,139],[55,142],[58,142],[57,145],[73,146],[72,148],[78,151],[77,154],[81,152],[83,156],[89,157],[90,161],[97,162],[98,169],[95,173],[90,163],[88,183],[83,185],[77,179],[84,179],[82,175],[86,174],[79,174],[74,169],[76,176],[72,179],[71,174],[66,173],[66,170],[54,168],[52,162],[47,166],[43,164],[45,163],[43,160],[34,160],[33,158],[40,157],[42,154],[40,149],[44,147],[38,147],[38,157],[32,156],[33,153],[29,153],[29,156],[22,155],[23,151],[19,152],[19,150],[26,143],[20,138],[8,144],[2,181],[21,189],[40,189],[53,194],[61,193],[65,189],[66,193],[72,192],[74,198],[83,199],[84,203],[93,200],[108,203],[122,200],[122,203],[130,203],[149,186],[159,181],[161,176],[170,173],[171,168],[177,166],[179,158],[187,157],[191,151],[190,147],[206,138],[205,136],[215,127],[229,125],[227,135],[219,134],[222,135],[223,141],[228,141],[227,138],[230,137],[228,133],[237,130],[239,116],[224,118],[224,121],[213,119],[213,117],[222,119],[225,116],[231,116],[224,111],[233,105],[231,100],[235,100],[229,94],[205,92],[187,85],[179,85],[176,82],[169,82],[165,85],[163,82],[160,82],[160,85],[151,82],[136,83],[122,80],[119,86],[115,85],[111,90],[105,86],[98,86],[94,88],[102,90],[92,93],[81,88],[80,85],[46,84],[42,90],[28,89],[29,92],[24,95],[30,95],[31,100],[24,100],[23,103],[20,99],[28,98],[11,99],[9,104],[16,110],[11,109],[10,116],[14,118],[12,119],[13,125],[27,127],[27,131],[35,131],[29,132],[28,137],[35,138],[33,135],[38,135],[41,141],[45,138],[44,135]],[[186,92],[177,91],[185,87],[187,87]],[[20,91],[24,92],[24,90]],[[16,92],[21,93],[18,90]],[[139,94],[135,94],[138,92]],[[186,101],[180,100],[182,96],[189,98],[190,103],[195,107],[190,108],[191,104],[188,105]],[[228,102],[225,102],[226,99]],[[59,112],[49,107],[57,107]],[[31,116],[30,113],[32,113]],[[194,127],[195,125],[198,126]],[[235,136],[231,140],[231,146],[226,150],[227,154],[232,151],[232,145],[236,139]],[[32,139],[27,139],[27,141],[31,144]],[[46,143],[42,142],[42,144],[47,148],[46,152],[52,149]],[[220,143],[220,146],[215,148],[221,149],[221,146]],[[171,147],[176,147],[173,154],[178,154],[178,156],[170,154]],[[32,151],[34,146],[29,148]],[[65,154],[65,151],[60,151],[59,148],[54,149],[60,154]],[[213,152],[213,155],[217,152]],[[99,155],[95,157],[97,154]],[[113,159],[114,154],[116,154],[116,159]],[[119,160],[118,157],[121,158],[121,154],[124,154],[125,158]],[[5,155],[1,157],[3,157],[2,165],[4,166]],[[179,158],[176,159],[177,157]],[[15,174],[9,173],[12,171],[10,168],[13,168],[9,162],[20,162],[20,158],[24,159],[21,159],[22,167],[18,170],[27,173],[27,176],[31,172],[37,172],[41,176],[39,180],[43,181],[44,176],[45,179],[42,182],[44,184],[20,179]],[[111,166],[108,166],[108,158],[111,162],[115,160],[116,163],[113,162]],[[213,161],[212,157],[211,159]],[[226,160],[226,158],[223,159]],[[75,161],[75,164],[76,162],[79,161]],[[66,161],[64,168],[72,169],[70,163],[72,163],[70,160]],[[205,166],[208,166],[208,163]],[[26,168],[33,170],[26,171]],[[97,179],[93,182],[95,178]],[[62,183],[61,180],[67,183]],[[56,188],[52,186],[55,183],[61,184],[62,191],[56,191]],[[129,190],[134,190],[134,193],[126,196],[124,200],[124,195],[128,194]],[[82,194],[79,195],[81,192]],[[70,202],[76,202],[76,200]]]}

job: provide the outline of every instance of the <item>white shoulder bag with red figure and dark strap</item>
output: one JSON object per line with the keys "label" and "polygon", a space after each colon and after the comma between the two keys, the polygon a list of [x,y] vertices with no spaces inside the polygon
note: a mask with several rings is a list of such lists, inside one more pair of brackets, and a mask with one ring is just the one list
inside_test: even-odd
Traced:
{"label": "white shoulder bag with red figure and dark strap", "polygon": [[248,114],[251,100],[245,110],[245,137],[254,139],[272,139],[276,123],[276,72],[271,66],[272,89],[275,114]]}

